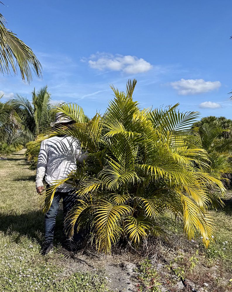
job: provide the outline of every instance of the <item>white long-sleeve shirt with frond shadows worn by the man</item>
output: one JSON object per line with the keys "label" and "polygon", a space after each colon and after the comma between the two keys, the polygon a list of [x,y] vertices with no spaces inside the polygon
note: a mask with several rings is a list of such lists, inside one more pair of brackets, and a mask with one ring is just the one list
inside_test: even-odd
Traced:
{"label": "white long-sleeve shirt with frond shadows worn by the man", "polygon": [[[77,161],[83,163],[87,155],[81,150],[81,143],[73,137],[52,137],[42,141],[38,156],[35,186],[43,186],[43,179],[49,185],[55,185],[57,180],[67,178],[69,173],[77,168]],[[59,187],[60,192],[72,188],[68,183]]]}

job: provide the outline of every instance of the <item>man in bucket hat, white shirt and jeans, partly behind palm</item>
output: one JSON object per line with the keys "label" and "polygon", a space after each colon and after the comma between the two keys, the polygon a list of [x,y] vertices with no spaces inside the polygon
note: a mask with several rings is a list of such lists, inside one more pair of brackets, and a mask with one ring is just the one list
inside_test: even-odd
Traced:
{"label": "man in bucket hat, white shirt and jeans, partly behind palm", "polygon": [[[75,123],[74,120],[62,112],[58,112],[55,122],[51,123],[51,126],[68,126],[73,123]],[[41,194],[44,190],[44,177],[47,187],[56,185],[57,180],[67,178],[68,174],[76,169],[77,161],[83,163],[84,159],[87,159],[87,155],[81,150],[81,143],[78,139],[59,135],[42,141],[35,179],[37,193]],[[45,242],[41,250],[43,255],[53,251],[54,228],[59,202],[62,198],[63,213],[66,217],[75,203],[73,191],[72,185],[68,183],[63,183],[56,189],[51,207],[45,214]],[[66,238],[66,247],[72,251],[75,249],[75,245],[71,244],[68,238]]]}

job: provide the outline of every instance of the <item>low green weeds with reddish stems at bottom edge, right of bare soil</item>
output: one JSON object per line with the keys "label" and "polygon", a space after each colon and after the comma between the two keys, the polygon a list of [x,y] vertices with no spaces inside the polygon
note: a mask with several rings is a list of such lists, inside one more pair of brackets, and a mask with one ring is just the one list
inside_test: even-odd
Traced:
{"label": "low green weeds with reddish stems at bottom edge, right of bare soil", "polygon": [[136,269],[136,272],[138,272],[137,279],[140,281],[140,284],[137,285],[137,291],[161,291],[159,286],[162,284],[159,282],[159,275],[150,260],[145,260],[144,262],[140,263],[140,266],[138,269]]}

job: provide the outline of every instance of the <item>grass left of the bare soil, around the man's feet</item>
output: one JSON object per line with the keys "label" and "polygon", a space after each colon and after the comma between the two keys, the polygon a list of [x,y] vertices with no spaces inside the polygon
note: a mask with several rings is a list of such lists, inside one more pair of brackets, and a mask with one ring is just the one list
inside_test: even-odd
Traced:
{"label": "grass left of the bare soil, around the man's feet", "polygon": [[[104,274],[67,272],[62,255],[40,255],[44,215],[35,191],[35,171],[23,153],[0,161],[0,292],[106,291]],[[59,247],[61,215],[57,219]]]}

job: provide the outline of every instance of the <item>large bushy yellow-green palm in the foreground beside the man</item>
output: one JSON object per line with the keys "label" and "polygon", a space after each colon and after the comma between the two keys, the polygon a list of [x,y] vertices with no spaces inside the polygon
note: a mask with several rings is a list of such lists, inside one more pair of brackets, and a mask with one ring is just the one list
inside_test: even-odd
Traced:
{"label": "large bushy yellow-green palm in the foreground beside the man", "polygon": [[[66,232],[72,236],[90,229],[92,243],[109,253],[121,238],[138,246],[148,236],[164,236],[171,212],[183,221],[189,239],[200,233],[208,246],[213,218],[207,208],[221,204],[224,187],[210,175],[207,151],[186,139],[198,113],[181,113],[178,105],[140,109],[132,98],[135,85],[136,80],[128,81],[126,93],[112,86],[115,98],[105,114],[87,122],[82,109],[75,112],[66,105],[63,112],[78,114],[78,123],[46,136],[71,135],[89,152],[89,160],[67,178],[77,187],[77,201]],[[44,211],[54,191],[47,192]]]}

